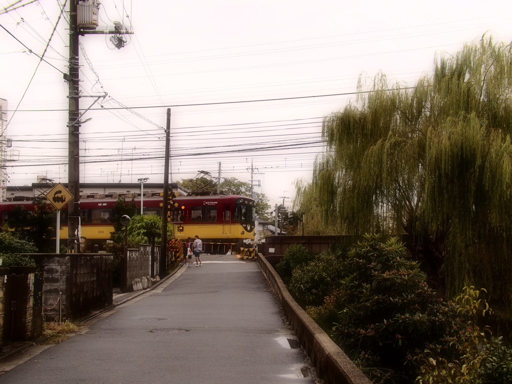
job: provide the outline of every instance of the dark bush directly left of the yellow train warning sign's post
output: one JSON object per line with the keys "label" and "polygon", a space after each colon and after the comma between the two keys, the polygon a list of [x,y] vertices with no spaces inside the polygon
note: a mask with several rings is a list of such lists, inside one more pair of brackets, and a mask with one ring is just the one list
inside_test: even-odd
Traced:
{"label": "dark bush directly left of the yellow train warning sign's post", "polygon": [[44,198],[34,198],[34,210],[16,205],[9,211],[6,229],[12,230],[16,238],[33,243],[40,253],[55,249],[56,210]]}

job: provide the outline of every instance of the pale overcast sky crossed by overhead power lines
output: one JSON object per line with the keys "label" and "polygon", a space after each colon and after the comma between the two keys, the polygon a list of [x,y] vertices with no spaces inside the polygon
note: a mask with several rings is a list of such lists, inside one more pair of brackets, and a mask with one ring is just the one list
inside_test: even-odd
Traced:
{"label": "pale overcast sky crossed by overhead power lines", "polygon": [[[8,185],[68,181],[64,2],[0,0]],[[250,183],[252,169],[255,191],[290,206],[324,150],[323,117],[355,102],[359,79],[413,86],[464,42],[512,41],[510,20],[509,0],[103,0],[99,24],[133,34],[120,49],[80,37],[80,182],[162,182],[170,108],[170,181],[217,177],[220,163]]]}

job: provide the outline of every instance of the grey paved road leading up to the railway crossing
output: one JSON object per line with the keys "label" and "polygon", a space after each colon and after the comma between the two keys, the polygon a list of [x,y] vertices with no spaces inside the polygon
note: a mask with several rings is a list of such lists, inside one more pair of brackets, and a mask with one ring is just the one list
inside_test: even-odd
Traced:
{"label": "grey paved road leading up to the railway crossing", "polygon": [[0,363],[0,383],[315,383],[257,264],[201,259],[66,342]]}

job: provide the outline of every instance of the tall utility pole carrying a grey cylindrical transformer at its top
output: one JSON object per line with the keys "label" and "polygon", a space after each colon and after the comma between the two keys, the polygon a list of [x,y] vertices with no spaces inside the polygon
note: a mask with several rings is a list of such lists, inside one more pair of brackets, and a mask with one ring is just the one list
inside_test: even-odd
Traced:
{"label": "tall utility pole carrying a grey cylindrical transformer at its top", "polygon": [[[79,78],[79,35],[112,34],[110,41],[116,48],[124,46],[123,34],[133,33],[121,23],[112,28],[98,28],[99,3],[96,0],[71,0],[69,6],[69,74],[64,75],[68,82],[68,190],[73,199],[68,203],[68,253],[80,251],[80,118],[96,103],[100,96],[80,95]],[[96,100],[80,114],[80,97],[93,97]],[[57,229],[58,230],[58,229]]]}

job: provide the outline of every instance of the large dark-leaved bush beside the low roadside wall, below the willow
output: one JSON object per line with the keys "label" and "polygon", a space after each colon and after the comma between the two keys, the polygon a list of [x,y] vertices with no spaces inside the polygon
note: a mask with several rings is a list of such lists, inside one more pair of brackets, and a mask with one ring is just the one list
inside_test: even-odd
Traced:
{"label": "large dark-leaved bush beside the low roadside wall, below the willow", "polygon": [[334,339],[375,382],[412,382],[416,351],[455,337],[455,306],[429,288],[396,238],[366,235],[340,264],[346,277],[327,303],[339,311]]}

